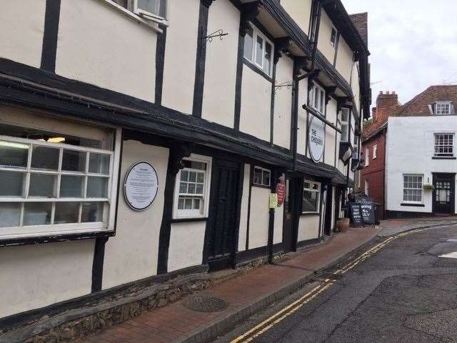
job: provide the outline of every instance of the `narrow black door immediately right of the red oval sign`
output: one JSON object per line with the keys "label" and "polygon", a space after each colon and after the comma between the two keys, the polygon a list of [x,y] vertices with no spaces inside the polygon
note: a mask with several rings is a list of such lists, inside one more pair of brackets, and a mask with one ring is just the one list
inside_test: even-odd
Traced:
{"label": "narrow black door immediately right of the red oval sign", "polygon": [[286,197],[284,198],[284,217],[283,217],[283,249],[284,252],[293,252],[295,248],[295,217],[296,217],[296,197],[295,180],[286,177]]}

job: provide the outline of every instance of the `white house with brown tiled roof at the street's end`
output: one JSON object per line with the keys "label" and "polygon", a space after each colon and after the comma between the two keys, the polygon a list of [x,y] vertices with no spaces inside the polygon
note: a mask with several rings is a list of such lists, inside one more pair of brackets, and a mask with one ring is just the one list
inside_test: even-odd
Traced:
{"label": "white house with brown tiled roof at the street's end", "polygon": [[388,217],[456,214],[457,86],[431,86],[388,118]]}

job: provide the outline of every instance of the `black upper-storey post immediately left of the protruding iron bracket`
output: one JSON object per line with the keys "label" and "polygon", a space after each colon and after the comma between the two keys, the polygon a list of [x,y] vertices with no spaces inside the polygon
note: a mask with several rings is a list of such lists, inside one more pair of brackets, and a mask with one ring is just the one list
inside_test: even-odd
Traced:
{"label": "black upper-storey post immediately left of the protruding iron bracket", "polygon": [[208,34],[209,6],[214,0],[201,0],[199,11],[199,31],[197,34],[197,51],[195,59],[194,105],[192,114],[201,118],[206,65],[206,35]]}

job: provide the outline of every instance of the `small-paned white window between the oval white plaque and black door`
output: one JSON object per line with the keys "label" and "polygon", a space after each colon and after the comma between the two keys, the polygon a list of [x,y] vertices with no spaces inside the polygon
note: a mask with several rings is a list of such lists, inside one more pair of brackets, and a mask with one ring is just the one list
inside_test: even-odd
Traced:
{"label": "small-paned white window between the oval white plaque and black door", "polygon": [[[181,172],[188,170],[191,172],[202,172],[201,169],[184,168],[176,174],[176,182],[174,186],[174,200],[173,200],[173,219],[192,219],[192,218],[206,218],[209,213],[209,190],[211,189],[211,165],[213,159],[211,156],[203,156],[198,154],[191,154],[191,156],[184,158],[185,161],[195,161],[206,164],[205,183],[203,196],[201,197],[201,209],[178,209],[179,202],[179,184],[181,182]],[[198,196],[196,196],[198,197]]]}

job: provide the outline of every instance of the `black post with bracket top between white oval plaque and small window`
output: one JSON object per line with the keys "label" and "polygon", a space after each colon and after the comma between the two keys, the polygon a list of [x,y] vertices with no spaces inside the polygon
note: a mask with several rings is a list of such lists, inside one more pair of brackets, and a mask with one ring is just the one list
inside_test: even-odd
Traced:
{"label": "black post with bracket top between white oval plaque and small window", "polygon": [[157,274],[168,272],[171,219],[173,218],[173,198],[176,174],[184,168],[182,159],[191,156],[194,144],[176,143],[170,147],[169,163],[166,173],[164,191],[164,214],[159,234],[159,256],[157,258]]}

